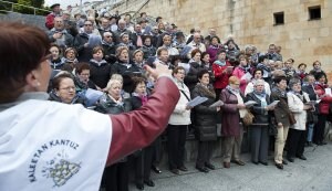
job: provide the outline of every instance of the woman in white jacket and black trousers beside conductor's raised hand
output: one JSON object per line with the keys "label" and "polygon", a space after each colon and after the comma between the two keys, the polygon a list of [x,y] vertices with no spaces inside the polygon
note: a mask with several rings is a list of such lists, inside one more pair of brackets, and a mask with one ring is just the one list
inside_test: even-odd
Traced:
{"label": "woman in white jacket and black trousers beside conductor's raised hand", "polygon": [[180,98],[177,102],[173,114],[170,115],[167,127],[167,148],[169,171],[179,174],[180,171],[187,171],[185,167],[185,145],[187,138],[187,128],[190,121],[191,107],[189,88],[185,85],[185,68],[177,66],[173,70],[173,77],[180,92]]}

